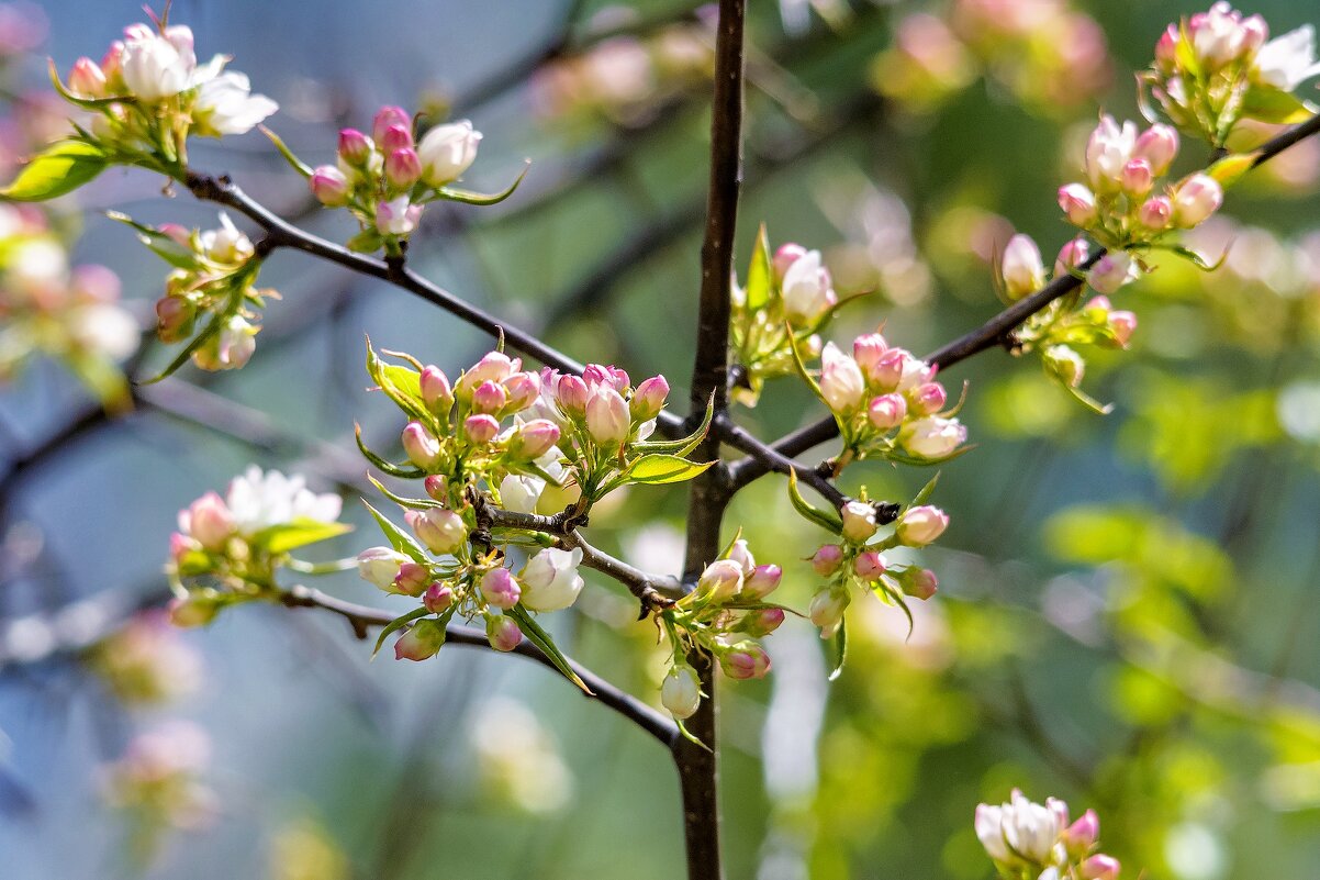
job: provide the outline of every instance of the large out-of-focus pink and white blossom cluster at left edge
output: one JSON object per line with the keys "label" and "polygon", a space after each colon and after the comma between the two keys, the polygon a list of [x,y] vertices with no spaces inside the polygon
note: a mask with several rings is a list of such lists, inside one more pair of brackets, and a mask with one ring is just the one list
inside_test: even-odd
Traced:
{"label": "large out-of-focus pink and white blossom cluster at left edge", "polygon": [[107,406],[127,403],[116,361],[139,344],[104,266],[69,266],[66,246],[30,206],[0,205],[0,379],[37,354],[59,359]]}

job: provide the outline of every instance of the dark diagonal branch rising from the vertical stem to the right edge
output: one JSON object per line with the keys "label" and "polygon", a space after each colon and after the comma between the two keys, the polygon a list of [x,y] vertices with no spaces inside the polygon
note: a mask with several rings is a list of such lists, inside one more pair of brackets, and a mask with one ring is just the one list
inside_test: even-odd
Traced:
{"label": "dark diagonal branch rising from the vertical stem to the right edge", "polygon": [[[1307,137],[1312,137],[1317,133],[1320,133],[1320,115],[1312,116],[1304,123],[1299,123],[1282,135],[1262,144],[1254,152],[1255,159],[1251,163],[1251,166],[1258,168],[1290,147],[1294,147]],[[1101,248],[1093,254],[1092,259],[1082,268],[1093,266],[1094,262],[1104,255],[1104,248]],[[1018,300],[970,333],[966,333],[965,336],[961,336],[957,340],[936,349],[927,357],[927,361],[944,370],[954,363],[970,358],[974,354],[979,354],[986,349],[1005,345],[1011,341],[1012,330],[1016,329],[1018,325],[1036,312],[1048,307],[1055,300],[1060,300],[1077,291],[1081,288],[1082,283],[1082,279],[1076,275],[1060,275],[1049,281],[1049,284],[1044,285],[1031,296]],[[801,455],[812,447],[825,443],[826,440],[833,440],[837,436],[838,424],[834,423],[834,419],[821,419],[820,422],[814,422],[780,437],[775,443],[770,444],[768,448],[777,456],[791,461],[793,456]],[[733,476],[733,484],[735,488],[742,488],[772,470],[777,473],[787,473],[787,466],[779,458],[766,456],[743,458],[742,461],[737,461],[730,465],[730,474]]]}

